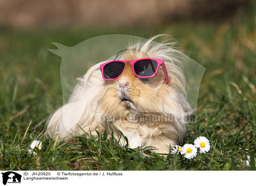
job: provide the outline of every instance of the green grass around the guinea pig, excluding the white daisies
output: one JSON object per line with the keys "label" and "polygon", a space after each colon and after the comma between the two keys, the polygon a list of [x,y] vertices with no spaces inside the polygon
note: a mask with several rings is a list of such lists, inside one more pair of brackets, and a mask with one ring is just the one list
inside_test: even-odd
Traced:
{"label": "green grass around the guinea pig, excluding the white daisies", "polygon": [[[1,29],[0,169],[255,170],[241,162],[256,150],[255,25],[253,5],[224,23],[186,21],[155,29]],[[61,58],[47,50],[54,47],[51,42],[73,46],[103,34],[149,38],[162,33],[180,40],[180,48],[206,67],[198,122],[189,125],[187,142],[205,136],[212,146],[209,153],[186,160],[180,155],[163,157],[146,147],[122,147],[105,135],[58,144],[43,136],[45,119],[62,104]],[[27,152],[34,139],[43,142],[36,157]]]}

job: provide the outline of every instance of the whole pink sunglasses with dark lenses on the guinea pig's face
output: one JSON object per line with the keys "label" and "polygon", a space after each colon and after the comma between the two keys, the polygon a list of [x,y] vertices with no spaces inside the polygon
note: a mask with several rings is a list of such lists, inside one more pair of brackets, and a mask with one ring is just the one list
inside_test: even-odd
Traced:
{"label": "whole pink sunglasses with dark lenses on the guinea pig's face", "polygon": [[127,62],[131,63],[134,75],[138,78],[152,78],[156,76],[159,67],[163,68],[163,73],[166,79],[166,84],[169,84],[168,73],[163,60],[154,58],[142,58],[135,61],[108,61],[101,64],[100,70],[102,72],[102,78],[105,81],[112,81],[122,75]]}

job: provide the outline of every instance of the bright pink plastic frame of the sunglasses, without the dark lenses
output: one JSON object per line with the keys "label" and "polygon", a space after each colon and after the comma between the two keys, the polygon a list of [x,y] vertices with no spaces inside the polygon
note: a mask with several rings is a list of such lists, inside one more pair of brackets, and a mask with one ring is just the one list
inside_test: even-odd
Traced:
{"label": "bright pink plastic frame of the sunglasses, without the dark lenses", "polygon": [[[141,61],[141,60],[145,60],[145,59],[150,59],[150,60],[157,61],[157,69],[156,69],[156,71],[154,72],[154,74],[151,75],[151,76],[138,76],[138,75],[135,73],[135,71],[134,71],[134,64],[135,64],[137,61]],[[166,79],[166,84],[169,84],[168,73],[167,73],[166,66],[165,66],[163,60],[154,59],[154,58],[142,58],[142,59],[137,59],[137,60],[135,60],[135,61],[114,60],[114,61],[108,61],[108,62],[106,62],[106,63],[103,63],[103,64],[101,64],[101,65],[99,66],[99,68],[100,68],[100,70],[101,70],[101,72],[102,72],[102,78],[103,78],[105,81],[113,81],[113,80],[119,78],[119,77],[122,75],[122,73],[124,72],[124,71],[122,71],[122,73],[121,73],[118,77],[116,77],[116,78],[106,79],[106,78],[104,77],[104,75],[103,75],[103,69],[104,69],[104,67],[105,67],[106,64],[109,64],[109,63],[112,63],[112,62],[122,62],[122,63],[125,64],[125,66],[126,66],[126,63],[127,63],[127,62],[130,62],[130,63],[131,63],[131,66],[132,66],[132,70],[133,70],[133,72],[134,72],[134,75],[137,76],[138,78],[152,78],[152,77],[156,76],[156,75],[157,75],[157,72],[158,72],[158,70],[159,70],[159,67],[161,66],[161,67],[163,68],[163,73],[164,73],[164,76],[165,76],[165,79]],[[125,69],[125,68],[124,68],[124,69]]]}

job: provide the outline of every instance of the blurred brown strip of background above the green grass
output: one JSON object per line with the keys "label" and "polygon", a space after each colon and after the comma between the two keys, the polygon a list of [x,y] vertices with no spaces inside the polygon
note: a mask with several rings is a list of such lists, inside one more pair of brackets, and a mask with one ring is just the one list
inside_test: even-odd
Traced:
{"label": "blurred brown strip of background above the green grass", "polygon": [[153,28],[187,19],[228,20],[249,5],[250,0],[1,0],[0,25]]}

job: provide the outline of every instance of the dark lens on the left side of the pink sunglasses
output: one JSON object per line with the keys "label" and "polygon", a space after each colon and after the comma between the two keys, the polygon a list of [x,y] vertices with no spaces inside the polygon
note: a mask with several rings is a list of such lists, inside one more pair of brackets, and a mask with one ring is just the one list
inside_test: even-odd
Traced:
{"label": "dark lens on the left side of the pink sunglasses", "polygon": [[118,61],[106,64],[103,68],[103,76],[106,79],[116,78],[120,76],[124,68],[125,64]]}

